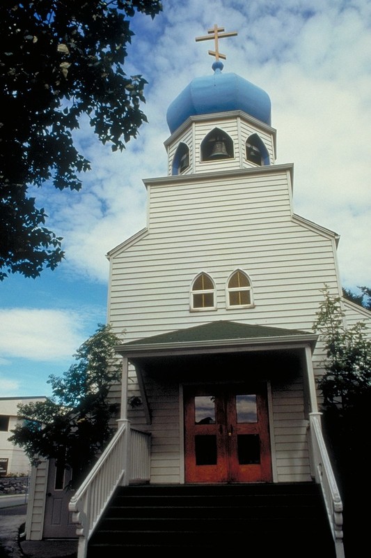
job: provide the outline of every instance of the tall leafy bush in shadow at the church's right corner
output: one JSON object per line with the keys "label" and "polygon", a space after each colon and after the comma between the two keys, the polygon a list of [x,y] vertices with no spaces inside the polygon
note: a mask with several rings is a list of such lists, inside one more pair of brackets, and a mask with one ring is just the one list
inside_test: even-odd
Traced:
{"label": "tall leafy bush in shadow at the church's right corner", "polygon": [[[324,435],[336,469],[344,503],[345,554],[353,555],[367,540],[368,515],[361,513],[371,497],[367,482],[371,452],[371,340],[365,321],[345,327],[341,299],[323,289],[313,326],[326,351],[319,389],[324,397]],[[354,485],[356,478],[362,482]],[[364,481],[364,482],[363,482]]]}

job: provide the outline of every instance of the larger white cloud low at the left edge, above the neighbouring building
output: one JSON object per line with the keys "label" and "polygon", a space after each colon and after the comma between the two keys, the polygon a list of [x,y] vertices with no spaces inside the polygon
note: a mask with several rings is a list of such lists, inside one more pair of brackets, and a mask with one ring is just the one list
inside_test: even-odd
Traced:
{"label": "larger white cloud low at the left edge, above the neighbouring building", "polygon": [[78,312],[14,308],[0,310],[0,354],[7,359],[71,359],[84,341]]}

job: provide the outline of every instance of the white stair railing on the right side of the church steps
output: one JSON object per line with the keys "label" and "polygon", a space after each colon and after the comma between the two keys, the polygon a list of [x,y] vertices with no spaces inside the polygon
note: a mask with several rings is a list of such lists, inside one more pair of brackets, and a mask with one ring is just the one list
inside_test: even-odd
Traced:
{"label": "white stair railing on the right side of the church steps", "polygon": [[329,524],[335,543],[336,558],[344,558],[342,533],[342,499],[322,434],[320,413],[310,413],[309,437],[315,481],[322,488]]}

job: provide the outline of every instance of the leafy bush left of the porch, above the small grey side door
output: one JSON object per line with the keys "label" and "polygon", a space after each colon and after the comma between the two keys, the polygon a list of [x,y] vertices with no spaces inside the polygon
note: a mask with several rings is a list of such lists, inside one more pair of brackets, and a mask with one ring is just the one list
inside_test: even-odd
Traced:
{"label": "leafy bush left of the porch, above the small grey side door", "polygon": [[99,325],[81,347],[63,376],[49,376],[52,397],[19,405],[20,421],[9,438],[33,463],[40,456],[72,467],[74,486],[93,465],[112,435],[110,419],[118,411],[107,395],[120,378],[114,346],[120,339],[110,326]]}

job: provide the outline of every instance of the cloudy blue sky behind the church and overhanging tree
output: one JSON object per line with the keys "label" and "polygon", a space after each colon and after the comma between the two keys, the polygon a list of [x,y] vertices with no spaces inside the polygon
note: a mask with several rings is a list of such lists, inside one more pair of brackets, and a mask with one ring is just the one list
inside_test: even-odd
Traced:
{"label": "cloudy blue sky behind the church and overhanging tree", "polygon": [[102,146],[83,121],[77,135],[92,170],[79,193],[38,189],[65,261],[38,279],[0,283],[0,396],[50,395],[97,324],[106,322],[106,252],[145,226],[143,179],[166,175],[166,109],[194,78],[212,72],[196,43],[214,24],[224,72],[265,89],[278,130],[276,163],[294,163],[294,211],[340,234],[342,285],[371,285],[371,5],[368,0],[164,0],[136,15],[125,71],[148,80],[148,124],[123,153]]}

